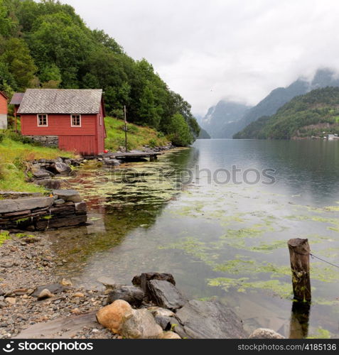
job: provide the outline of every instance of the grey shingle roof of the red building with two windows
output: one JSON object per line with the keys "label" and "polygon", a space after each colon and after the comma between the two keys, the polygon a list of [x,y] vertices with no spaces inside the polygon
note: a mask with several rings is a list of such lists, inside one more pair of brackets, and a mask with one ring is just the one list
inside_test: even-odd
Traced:
{"label": "grey shingle roof of the red building with two windows", "polygon": [[97,114],[102,89],[27,89],[18,114]]}

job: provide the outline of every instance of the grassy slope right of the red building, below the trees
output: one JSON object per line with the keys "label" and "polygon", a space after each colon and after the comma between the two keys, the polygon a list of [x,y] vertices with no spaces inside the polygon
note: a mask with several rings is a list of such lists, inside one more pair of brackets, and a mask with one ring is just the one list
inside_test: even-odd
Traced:
{"label": "grassy slope right of the red building, below the trees", "polygon": [[[106,117],[104,124],[107,133],[105,146],[111,151],[117,151],[119,146],[125,145],[124,121]],[[136,126],[136,124],[127,124],[127,138],[129,150],[140,149],[143,146],[156,147],[168,144],[168,139],[163,136],[163,133],[146,126]]]}

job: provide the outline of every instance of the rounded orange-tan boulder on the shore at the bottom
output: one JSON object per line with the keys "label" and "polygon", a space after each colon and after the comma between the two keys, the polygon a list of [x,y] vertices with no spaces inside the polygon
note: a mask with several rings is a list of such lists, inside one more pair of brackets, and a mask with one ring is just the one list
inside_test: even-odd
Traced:
{"label": "rounded orange-tan boulder on the shore at the bottom", "polygon": [[124,300],[117,300],[97,312],[97,322],[113,333],[119,333],[125,317],[131,315],[132,307]]}

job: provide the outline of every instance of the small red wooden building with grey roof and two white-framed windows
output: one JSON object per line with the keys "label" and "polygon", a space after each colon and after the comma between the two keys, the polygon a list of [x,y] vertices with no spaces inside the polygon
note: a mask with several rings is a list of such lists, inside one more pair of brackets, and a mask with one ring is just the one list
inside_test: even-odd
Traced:
{"label": "small red wooden building with grey roof and two white-framed windows", "polygon": [[82,155],[104,152],[101,89],[27,89],[14,98],[23,136]]}

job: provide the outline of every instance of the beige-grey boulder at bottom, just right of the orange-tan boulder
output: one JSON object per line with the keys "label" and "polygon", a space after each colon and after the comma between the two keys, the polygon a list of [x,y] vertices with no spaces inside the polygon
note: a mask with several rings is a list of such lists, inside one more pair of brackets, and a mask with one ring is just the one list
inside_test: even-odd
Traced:
{"label": "beige-grey boulder at bottom, just right of the orange-tan boulder", "polygon": [[127,339],[156,339],[161,337],[163,329],[156,323],[146,308],[132,310],[124,316],[120,334]]}

